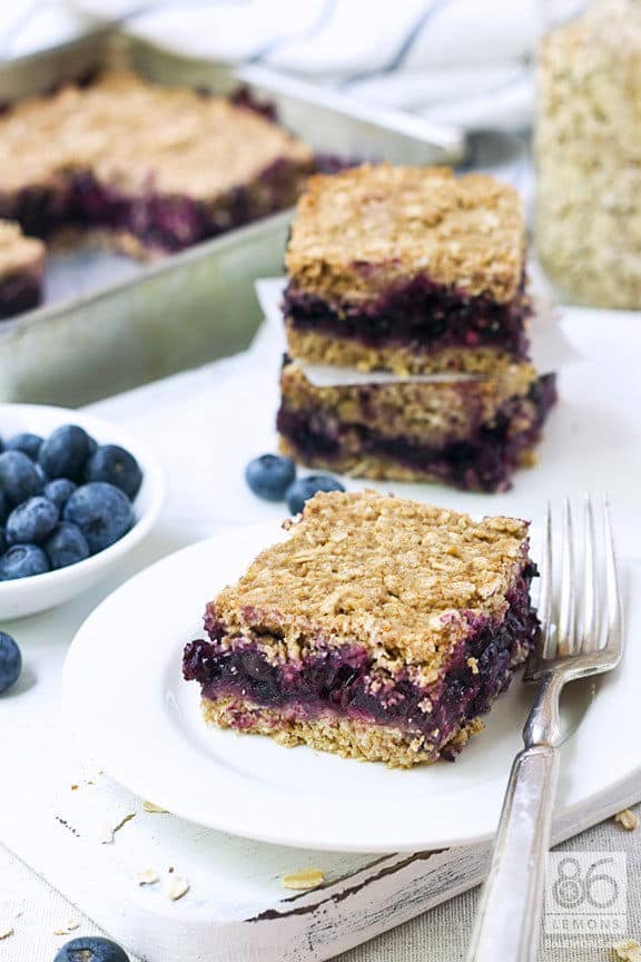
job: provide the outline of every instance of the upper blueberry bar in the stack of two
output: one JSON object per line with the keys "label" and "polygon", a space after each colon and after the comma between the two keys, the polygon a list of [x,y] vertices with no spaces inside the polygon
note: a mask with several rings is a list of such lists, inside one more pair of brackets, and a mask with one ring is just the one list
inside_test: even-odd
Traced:
{"label": "upper blueberry bar in the stack of two", "polygon": [[286,266],[292,357],[403,375],[527,359],[521,200],[493,177],[385,164],[312,177]]}

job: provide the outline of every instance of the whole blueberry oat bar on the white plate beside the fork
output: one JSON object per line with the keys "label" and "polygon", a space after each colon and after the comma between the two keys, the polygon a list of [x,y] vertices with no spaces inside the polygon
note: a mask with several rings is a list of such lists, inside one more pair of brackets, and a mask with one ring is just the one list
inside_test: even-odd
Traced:
{"label": "whole blueberry oat bar on the white plate beside the fork", "polygon": [[206,721],[394,767],[453,758],[534,645],[527,522],[320,493],[206,609]]}

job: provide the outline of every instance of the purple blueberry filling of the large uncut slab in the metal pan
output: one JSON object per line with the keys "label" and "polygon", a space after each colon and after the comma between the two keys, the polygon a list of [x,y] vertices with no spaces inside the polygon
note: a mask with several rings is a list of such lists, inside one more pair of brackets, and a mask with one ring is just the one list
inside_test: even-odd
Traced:
{"label": "purple blueberry filling of the large uncut slab in the metal pan", "polygon": [[36,237],[65,227],[108,228],[128,232],[149,247],[177,251],[287,207],[296,199],[302,176],[299,166],[280,158],[253,184],[207,204],[158,194],[152,184],[131,196],[89,171],[77,171],[51,186],[0,194],[0,217],[18,220]]}

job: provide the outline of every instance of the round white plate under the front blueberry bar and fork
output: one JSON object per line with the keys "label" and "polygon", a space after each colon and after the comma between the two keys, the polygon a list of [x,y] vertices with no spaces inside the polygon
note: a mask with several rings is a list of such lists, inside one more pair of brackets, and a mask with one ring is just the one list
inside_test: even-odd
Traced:
{"label": "round white plate under the front blueberry bar and fork", "polygon": [[[396,852],[490,836],[532,697],[519,679],[455,764],[408,772],[205,726],[198,686],[181,679],[183,647],[201,634],[206,601],[279,537],[274,522],[226,531],[137,575],[93,611],[65,668],[67,717],[87,754],[184,818],[266,842]],[[641,569],[629,570],[630,597],[641,597]],[[640,632],[637,608],[630,637]],[[585,686],[569,693],[561,808],[639,767],[640,673],[641,648],[633,646],[594,699]]]}

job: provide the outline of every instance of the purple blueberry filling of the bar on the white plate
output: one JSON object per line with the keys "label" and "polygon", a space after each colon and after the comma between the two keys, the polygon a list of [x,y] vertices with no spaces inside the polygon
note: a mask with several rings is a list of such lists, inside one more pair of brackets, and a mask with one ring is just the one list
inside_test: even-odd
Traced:
{"label": "purple blueberry filling of the bar on the white plate", "polygon": [[259,707],[294,709],[296,717],[308,719],[334,713],[422,735],[438,747],[487,711],[535,644],[539,621],[530,602],[534,575],[527,562],[506,596],[509,607],[500,622],[465,612],[470,634],[432,685],[416,684],[407,669],[394,675],[382,670],[367,649],[355,644],[317,645],[300,659],[273,665],[262,648],[272,636],[235,638],[229,646],[225,626],[213,612],[206,618],[209,640],[187,645],[183,674],[199,683],[209,700],[238,697]]}

